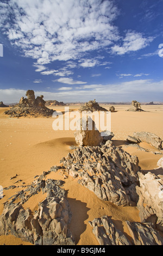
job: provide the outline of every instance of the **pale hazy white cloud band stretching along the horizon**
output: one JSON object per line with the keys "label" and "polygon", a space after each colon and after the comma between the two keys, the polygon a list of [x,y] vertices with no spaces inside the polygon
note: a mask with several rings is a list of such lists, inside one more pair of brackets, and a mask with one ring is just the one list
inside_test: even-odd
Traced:
{"label": "pale hazy white cloud band stretching along the horizon", "polygon": [[[116,84],[90,84],[73,89],[61,87],[54,92],[35,91],[35,97],[43,95],[44,100],[57,99],[65,102],[88,101],[162,101],[163,81],[134,80]],[[26,90],[14,88],[0,89],[1,99],[5,103],[18,102],[26,97]]]}

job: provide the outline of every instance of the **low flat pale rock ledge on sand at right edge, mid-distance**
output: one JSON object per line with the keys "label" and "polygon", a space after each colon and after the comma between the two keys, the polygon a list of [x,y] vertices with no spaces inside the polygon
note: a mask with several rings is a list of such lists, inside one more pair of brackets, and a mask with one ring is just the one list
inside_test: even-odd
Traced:
{"label": "low flat pale rock ledge on sand at right edge, mid-distance", "polygon": [[131,143],[146,142],[159,150],[161,150],[163,145],[162,139],[151,132],[134,132],[133,136],[127,137],[127,141]]}

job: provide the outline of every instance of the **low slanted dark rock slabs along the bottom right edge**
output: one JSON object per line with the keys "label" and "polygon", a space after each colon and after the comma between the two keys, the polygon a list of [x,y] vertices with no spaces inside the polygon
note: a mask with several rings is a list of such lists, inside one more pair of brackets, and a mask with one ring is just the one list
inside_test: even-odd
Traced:
{"label": "low slanted dark rock slabs along the bottom right edge", "polygon": [[99,245],[163,245],[163,237],[149,223],[126,221],[130,240],[108,216],[95,218],[89,223]]}

